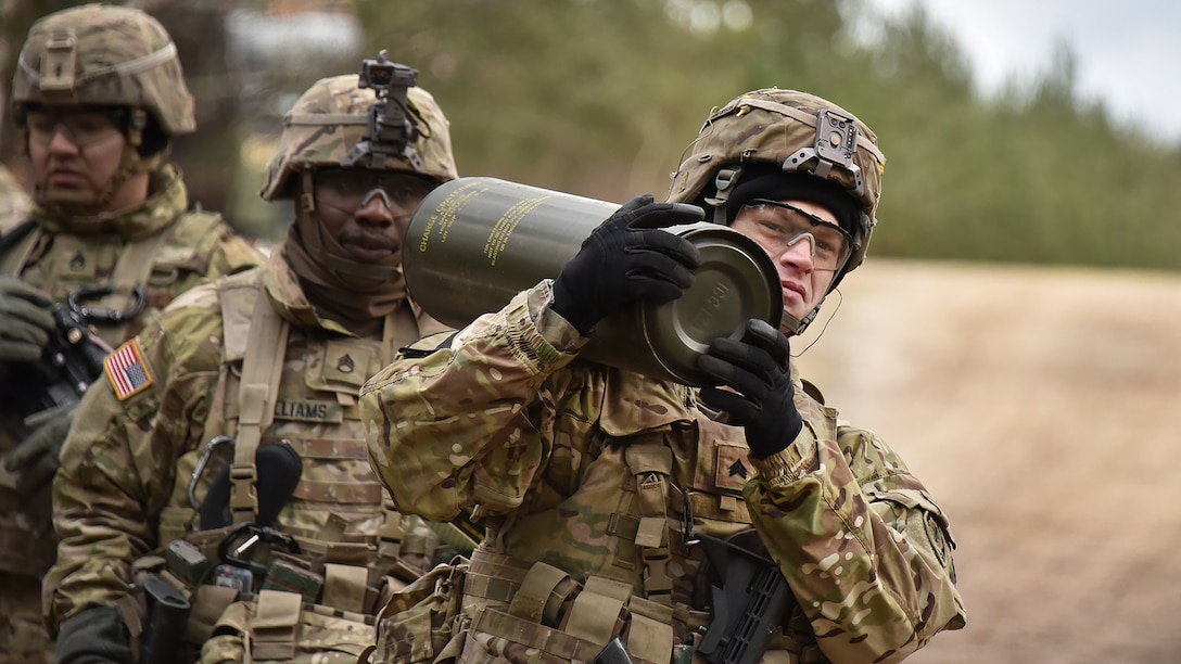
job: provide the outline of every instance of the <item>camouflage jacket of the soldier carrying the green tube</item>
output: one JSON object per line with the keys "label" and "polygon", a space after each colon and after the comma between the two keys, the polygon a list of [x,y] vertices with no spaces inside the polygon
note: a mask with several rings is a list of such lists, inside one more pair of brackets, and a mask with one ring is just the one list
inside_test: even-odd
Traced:
{"label": "camouflage jacket of the soldier carrying the green tube", "polygon": [[[398,506],[437,520],[470,509],[488,527],[454,584],[466,633],[423,652],[406,637],[413,616],[393,614],[379,658],[462,645],[464,662],[590,659],[631,623],[634,658],[687,662],[711,575],[686,522],[738,541],[753,528],[778,564],[792,598],[764,660],[896,662],[964,625],[947,520],[876,435],[839,424],[796,375],[803,431],[751,458],[742,429],[706,417],[689,388],[575,362],[585,339],[550,301],[543,281],[442,347],[424,339],[361,391],[370,458]],[[606,624],[575,629],[581,595],[562,573],[598,594]]]}

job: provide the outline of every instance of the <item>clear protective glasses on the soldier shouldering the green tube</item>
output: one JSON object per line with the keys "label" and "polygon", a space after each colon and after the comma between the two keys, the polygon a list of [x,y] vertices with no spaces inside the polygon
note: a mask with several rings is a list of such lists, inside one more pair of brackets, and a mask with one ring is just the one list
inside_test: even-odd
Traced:
{"label": "clear protective glasses on the soldier shouldering the green tube", "polygon": [[853,254],[853,237],[843,228],[789,203],[751,198],[738,210],[738,223],[749,224],[759,245],[781,252],[807,239],[816,269],[841,269]]}

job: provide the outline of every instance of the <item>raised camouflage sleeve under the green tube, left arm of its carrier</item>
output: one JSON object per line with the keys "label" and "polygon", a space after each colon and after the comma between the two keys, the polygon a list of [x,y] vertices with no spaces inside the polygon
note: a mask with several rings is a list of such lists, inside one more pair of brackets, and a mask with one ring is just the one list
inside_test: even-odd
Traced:
{"label": "raised camouflage sleeve under the green tube, left arm of its carrier", "polygon": [[542,384],[582,341],[550,299],[543,281],[361,389],[370,462],[399,509],[446,521],[476,502],[490,514],[521,503],[549,453]]}

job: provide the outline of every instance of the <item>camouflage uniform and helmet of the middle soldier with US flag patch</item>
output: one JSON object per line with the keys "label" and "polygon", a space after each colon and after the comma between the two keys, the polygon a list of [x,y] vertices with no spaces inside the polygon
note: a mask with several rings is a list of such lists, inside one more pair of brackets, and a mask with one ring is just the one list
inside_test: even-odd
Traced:
{"label": "camouflage uniform and helmet of the middle soldier with US flag patch", "polygon": [[[426,165],[416,170],[398,158],[386,168],[436,182],[456,177],[442,111],[420,89],[410,89],[409,98],[422,118],[425,136],[416,147]],[[313,85],[286,118],[263,197],[311,202],[311,195],[298,195],[295,183],[318,167],[340,164],[364,135],[372,103],[372,92],[358,90],[357,76]],[[325,314],[292,259],[295,243],[308,242],[304,234],[315,233],[312,211],[298,208],[292,235],[263,268],[193,289],[117,351],[133,350],[148,384],[129,393],[112,377],[86,393],[54,487],[61,545],[45,582],[48,624],[117,607],[136,638],[145,629],[144,607],[131,584],[164,564],[151,554],[183,540],[214,560],[210,567],[218,562],[218,543],[240,525],[202,530],[190,492],[205,507],[215,477],[237,463],[215,454],[194,474],[218,436],[246,444],[250,419],[243,415],[249,403],[242,386],[252,385],[249,358],[255,354],[273,356],[276,364],[281,358],[274,393],[265,402],[272,404],[273,423],[263,425],[259,443],[260,449],[289,445],[301,460],[299,483],[275,521],[276,532],[294,536],[300,552],[268,560],[267,547],[260,546],[243,554],[260,553],[255,562],[268,571],[263,590],[255,584],[253,593],[213,585],[208,568],[187,578],[168,567],[167,578],[194,605],[185,649],[170,656],[193,659],[201,649],[204,662],[354,662],[374,640],[372,607],[380,587],[404,585],[429,566],[430,529],[418,519],[400,517],[368,466],[357,392],[397,346],[443,327],[420,314],[404,289],[390,313],[368,321],[370,332],[358,333]],[[268,315],[286,332],[260,334],[260,320]],[[261,464],[255,471],[262,492]],[[260,495],[257,504],[267,497]],[[322,594],[301,597],[273,587],[278,568],[266,565],[276,560],[299,566],[301,578],[319,577]],[[257,568],[255,575],[261,577]],[[285,611],[278,625],[276,606]]]}

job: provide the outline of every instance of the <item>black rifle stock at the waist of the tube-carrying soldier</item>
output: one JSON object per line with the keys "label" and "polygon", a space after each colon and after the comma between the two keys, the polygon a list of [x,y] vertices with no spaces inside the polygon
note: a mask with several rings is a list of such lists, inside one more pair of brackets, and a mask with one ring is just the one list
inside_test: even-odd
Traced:
{"label": "black rifle stock at the waist of the tube-carrying soldier", "polygon": [[732,542],[698,535],[722,585],[712,586],[710,625],[697,651],[713,664],[751,664],[766,651],[791,590],[770,558]]}

